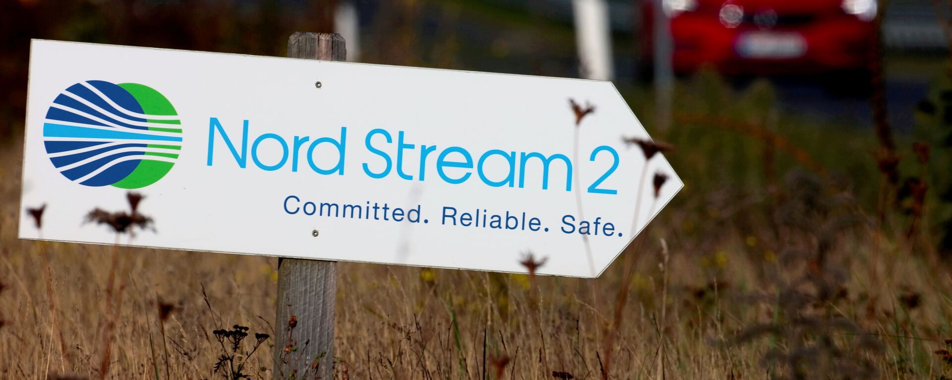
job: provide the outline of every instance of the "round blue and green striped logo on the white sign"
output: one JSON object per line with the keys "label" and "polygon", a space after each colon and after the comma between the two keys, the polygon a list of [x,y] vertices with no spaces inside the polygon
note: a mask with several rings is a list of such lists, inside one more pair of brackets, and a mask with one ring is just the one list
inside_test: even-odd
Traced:
{"label": "round blue and green striped logo on the white sign", "polygon": [[182,149],[181,121],[162,93],[136,83],[77,83],[47,111],[50,161],[73,182],[138,189],[169,172]]}

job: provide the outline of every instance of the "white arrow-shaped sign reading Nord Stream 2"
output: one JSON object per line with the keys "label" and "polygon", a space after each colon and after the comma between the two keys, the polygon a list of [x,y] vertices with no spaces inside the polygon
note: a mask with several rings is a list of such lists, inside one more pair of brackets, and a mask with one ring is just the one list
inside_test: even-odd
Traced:
{"label": "white arrow-shaped sign reading Nord Stream 2", "polygon": [[34,40],[20,237],[134,190],[124,245],[595,277],[683,186],[623,136],[604,81]]}

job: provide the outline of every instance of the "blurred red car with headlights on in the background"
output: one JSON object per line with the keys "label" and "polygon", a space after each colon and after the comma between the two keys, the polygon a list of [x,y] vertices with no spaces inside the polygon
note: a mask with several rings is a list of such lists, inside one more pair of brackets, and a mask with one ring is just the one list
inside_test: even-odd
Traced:
{"label": "blurred red car with headlights on in the background", "polygon": [[[645,0],[643,62],[651,62],[652,0]],[[673,70],[724,74],[863,74],[875,42],[877,0],[663,0]],[[846,75],[849,76],[849,75]]]}

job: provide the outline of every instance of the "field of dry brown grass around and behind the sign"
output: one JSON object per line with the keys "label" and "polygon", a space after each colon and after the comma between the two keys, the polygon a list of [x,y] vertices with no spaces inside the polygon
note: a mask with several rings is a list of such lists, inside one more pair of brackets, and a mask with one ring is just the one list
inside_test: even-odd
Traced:
{"label": "field of dry brown grass around and behind the sign", "polygon": [[[737,136],[662,136],[687,188],[598,280],[340,264],[335,378],[950,378],[952,277],[909,226],[922,212],[865,206],[887,175],[849,182],[796,141],[718,133]],[[277,259],[20,241],[21,144],[0,145],[0,378],[271,377]],[[748,176],[762,185],[728,180]],[[219,342],[236,325],[237,354]]]}

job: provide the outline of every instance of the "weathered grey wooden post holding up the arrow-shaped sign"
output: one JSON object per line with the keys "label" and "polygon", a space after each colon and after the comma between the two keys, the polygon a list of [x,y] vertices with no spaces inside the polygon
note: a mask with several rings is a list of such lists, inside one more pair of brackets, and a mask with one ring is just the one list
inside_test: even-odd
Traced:
{"label": "weathered grey wooden post holding up the arrow-shaped sign", "polygon": [[[298,31],[288,38],[288,57],[345,61],[344,44],[337,33]],[[336,291],[336,262],[278,259],[273,378],[288,379],[295,371],[301,378],[308,369],[316,378],[333,378]]]}

